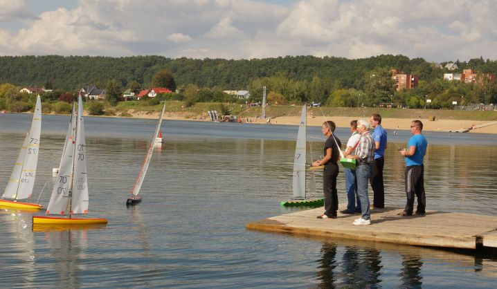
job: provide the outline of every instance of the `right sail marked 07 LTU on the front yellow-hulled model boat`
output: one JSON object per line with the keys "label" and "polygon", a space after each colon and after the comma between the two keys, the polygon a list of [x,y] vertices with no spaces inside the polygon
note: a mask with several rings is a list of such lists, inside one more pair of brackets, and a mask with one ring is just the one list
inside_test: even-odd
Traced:
{"label": "right sail marked 07 LTU on the front yellow-hulled model boat", "polygon": [[74,148],[71,214],[88,214],[87,147],[84,137],[83,102],[78,97],[78,121]]}

